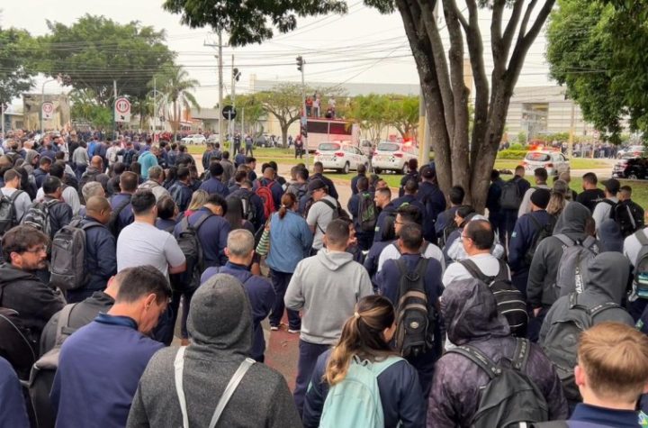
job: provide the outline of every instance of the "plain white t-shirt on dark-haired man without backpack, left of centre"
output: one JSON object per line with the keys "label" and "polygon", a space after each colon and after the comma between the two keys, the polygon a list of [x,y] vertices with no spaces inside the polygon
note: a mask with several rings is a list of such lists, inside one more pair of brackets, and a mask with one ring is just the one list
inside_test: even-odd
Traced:
{"label": "plain white t-shirt on dark-haired man without backpack, left of centre", "polygon": [[117,239],[118,272],[152,265],[168,278],[168,267],[180,266],[184,261],[184,254],[173,235],[148,223],[130,223]]}

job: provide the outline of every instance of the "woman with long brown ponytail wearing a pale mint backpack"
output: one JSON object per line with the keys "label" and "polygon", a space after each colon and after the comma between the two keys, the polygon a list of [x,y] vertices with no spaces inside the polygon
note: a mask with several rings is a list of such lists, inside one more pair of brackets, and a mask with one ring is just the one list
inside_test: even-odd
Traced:
{"label": "woman with long brown ponytail wearing a pale mint backpack", "polygon": [[[353,414],[331,414],[336,405],[329,403],[329,414],[322,417],[329,389],[342,386],[347,376],[351,376],[350,370],[357,369],[354,365],[374,367],[385,427],[425,426],[426,402],[419,375],[390,346],[396,330],[394,322],[394,309],[387,298],[366,296],[360,299],[356,313],[342,329],[338,344],[320,355],[317,361],[304,403],[305,427],[353,426],[354,418],[365,413],[366,409],[358,408]],[[334,397],[335,400],[347,398],[338,394]],[[356,396],[348,398],[357,399]],[[341,420],[343,425],[340,425]]]}

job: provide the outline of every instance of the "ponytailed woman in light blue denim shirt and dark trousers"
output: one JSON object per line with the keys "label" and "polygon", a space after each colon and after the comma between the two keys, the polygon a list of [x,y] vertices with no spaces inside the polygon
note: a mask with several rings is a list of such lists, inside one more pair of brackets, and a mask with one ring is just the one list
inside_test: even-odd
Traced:
{"label": "ponytailed woman in light blue denim shirt and dark trousers", "polygon": [[[297,263],[309,256],[313,235],[306,220],[297,210],[297,197],[292,193],[282,196],[279,211],[272,214],[266,228],[270,232],[270,249],[266,263],[270,268],[270,278],[275,287],[275,305],[270,313],[270,330],[279,330],[284,316],[284,296],[293,278]],[[302,319],[299,312],[288,310],[288,332],[299,332]]]}

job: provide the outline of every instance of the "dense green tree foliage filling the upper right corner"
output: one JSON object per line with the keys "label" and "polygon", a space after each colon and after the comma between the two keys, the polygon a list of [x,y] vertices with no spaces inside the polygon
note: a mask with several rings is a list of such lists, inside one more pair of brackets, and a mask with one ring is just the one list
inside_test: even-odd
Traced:
{"label": "dense green tree foliage filling the upper right corner", "polygon": [[551,75],[603,136],[619,142],[623,121],[648,131],[648,5],[559,0],[547,31]]}

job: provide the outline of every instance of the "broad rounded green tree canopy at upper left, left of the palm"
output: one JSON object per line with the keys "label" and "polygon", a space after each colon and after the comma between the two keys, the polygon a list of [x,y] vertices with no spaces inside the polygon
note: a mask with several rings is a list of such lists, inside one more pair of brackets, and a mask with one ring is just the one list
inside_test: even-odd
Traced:
{"label": "broad rounded green tree canopy at upper left, left of the palm", "polygon": [[137,21],[120,24],[85,14],[71,25],[48,21],[39,38],[33,68],[49,76],[67,75],[76,89],[92,90],[100,105],[111,106],[113,82],[132,101],[148,97],[148,82],[172,67],[175,53],[164,31]]}

